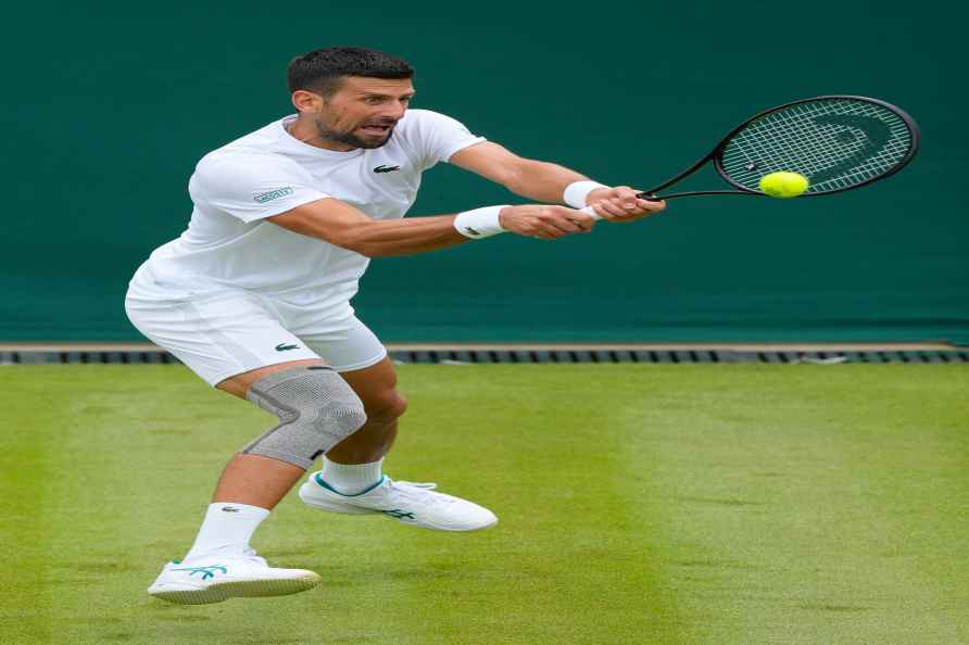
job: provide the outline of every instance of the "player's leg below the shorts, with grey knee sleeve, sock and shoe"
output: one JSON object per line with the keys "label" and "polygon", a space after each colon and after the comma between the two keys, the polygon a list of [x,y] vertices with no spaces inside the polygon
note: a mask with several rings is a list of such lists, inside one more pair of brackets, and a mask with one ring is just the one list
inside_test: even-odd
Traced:
{"label": "player's leg below the shorts, with grey knee sleeve, sock and shoe", "polygon": [[[316,453],[334,445],[331,435],[342,439],[363,425],[361,403],[318,358],[254,369],[217,387],[276,413],[280,423],[232,457],[185,561],[166,564],[148,592],[173,603],[207,604],[312,589],[319,576],[269,567],[249,541]],[[332,396],[317,404],[317,392]]]}

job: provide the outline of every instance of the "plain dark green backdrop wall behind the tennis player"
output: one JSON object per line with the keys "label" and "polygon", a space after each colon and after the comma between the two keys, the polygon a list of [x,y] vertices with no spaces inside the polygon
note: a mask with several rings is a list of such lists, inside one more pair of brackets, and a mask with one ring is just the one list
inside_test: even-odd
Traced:
{"label": "plain dark green backdrop wall behind the tennis player", "polygon": [[[291,56],[358,45],[415,65],[415,106],[609,184],[646,188],[753,112],[815,94],[885,99],[923,134],[910,167],[853,193],[685,200],[593,236],[377,260],[354,305],[387,341],[969,342],[954,4],[34,7],[8,10],[0,45],[0,340],[140,338],[126,283],[185,227],[198,159],[291,111]],[[509,199],[441,165],[412,213]]]}

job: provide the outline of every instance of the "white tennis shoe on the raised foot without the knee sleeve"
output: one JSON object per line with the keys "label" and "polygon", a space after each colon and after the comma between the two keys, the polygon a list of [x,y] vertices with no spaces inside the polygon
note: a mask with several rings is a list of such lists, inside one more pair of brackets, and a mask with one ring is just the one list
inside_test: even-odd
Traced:
{"label": "white tennis shoe on the raised foot without the knee sleeve", "polygon": [[300,499],[332,513],[386,515],[404,524],[436,531],[478,531],[498,523],[498,517],[474,502],[436,493],[438,484],[393,481],[386,475],[356,495],[342,495],[314,472],[300,488]]}

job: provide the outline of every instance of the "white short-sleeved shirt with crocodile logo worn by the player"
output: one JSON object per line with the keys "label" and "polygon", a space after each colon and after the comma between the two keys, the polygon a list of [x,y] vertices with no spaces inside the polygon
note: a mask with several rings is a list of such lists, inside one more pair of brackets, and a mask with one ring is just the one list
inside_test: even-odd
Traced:
{"label": "white short-sleeved shirt with crocodile logo worn by the player", "polygon": [[303,143],[290,115],[210,152],[189,180],[188,229],[156,249],[131,280],[138,298],[188,298],[225,287],[293,295],[339,311],[356,293],[369,258],[268,222],[301,204],[336,198],[375,219],[403,217],[420,175],[485,141],[460,122],[408,110],[390,140],[335,152]]}

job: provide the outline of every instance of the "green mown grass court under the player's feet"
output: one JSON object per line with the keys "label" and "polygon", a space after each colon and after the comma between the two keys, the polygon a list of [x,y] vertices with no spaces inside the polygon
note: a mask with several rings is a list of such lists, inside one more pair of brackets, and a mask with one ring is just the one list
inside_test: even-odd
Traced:
{"label": "green mown grass court under the player's feet", "polygon": [[474,534],[291,493],[280,598],[144,592],[275,419],[180,366],[0,367],[0,643],[969,643],[969,371],[949,365],[400,366],[386,463]]}

